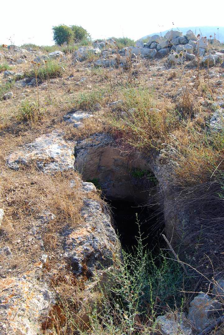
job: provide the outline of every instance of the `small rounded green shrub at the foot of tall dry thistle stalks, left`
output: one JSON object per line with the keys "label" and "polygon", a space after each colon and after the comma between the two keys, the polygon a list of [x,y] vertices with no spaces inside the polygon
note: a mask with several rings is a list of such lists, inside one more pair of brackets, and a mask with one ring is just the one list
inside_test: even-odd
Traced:
{"label": "small rounded green shrub at the foot of tall dry thistle stalks, left", "polygon": [[21,103],[19,113],[16,118],[18,121],[36,121],[43,116],[43,113],[39,112],[38,105],[35,102],[25,100]]}

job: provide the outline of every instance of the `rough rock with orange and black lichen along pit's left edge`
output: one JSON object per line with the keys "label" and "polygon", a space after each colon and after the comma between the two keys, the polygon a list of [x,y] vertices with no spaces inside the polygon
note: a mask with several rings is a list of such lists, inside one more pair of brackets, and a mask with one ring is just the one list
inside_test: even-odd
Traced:
{"label": "rough rock with orange and black lichen along pit's left edge", "polygon": [[102,209],[99,201],[84,200],[81,216],[84,223],[65,231],[64,250],[73,272],[89,278],[96,270],[113,265],[113,255],[120,253],[120,243],[109,212]]}

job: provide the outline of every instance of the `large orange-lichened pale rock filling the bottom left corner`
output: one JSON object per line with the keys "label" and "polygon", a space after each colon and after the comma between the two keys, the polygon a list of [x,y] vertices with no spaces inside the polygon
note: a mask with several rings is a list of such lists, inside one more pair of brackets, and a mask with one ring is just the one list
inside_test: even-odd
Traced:
{"label": "large orange-lichened pale rock filling the bottom left corner", "polygon": [[53,294],[44,283],[29,278],[0,279],[0,334],[39,334],[53,303]]}

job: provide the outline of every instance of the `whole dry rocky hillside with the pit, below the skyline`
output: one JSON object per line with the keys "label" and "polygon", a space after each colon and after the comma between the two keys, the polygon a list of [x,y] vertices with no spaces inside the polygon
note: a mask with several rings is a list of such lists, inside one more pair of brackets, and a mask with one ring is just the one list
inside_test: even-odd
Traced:
{"label": "whole dry rocky hillside with the pit, below the skyline", "polygon": [[58,49],[0,48],[0,334],[223,334],[224,46]]}

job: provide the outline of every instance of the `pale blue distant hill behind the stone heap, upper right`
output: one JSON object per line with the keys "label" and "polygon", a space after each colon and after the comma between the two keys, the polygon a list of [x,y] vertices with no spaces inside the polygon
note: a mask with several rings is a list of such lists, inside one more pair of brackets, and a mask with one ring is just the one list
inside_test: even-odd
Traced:
{"label": "pale blue distant hill behind the stone heap, upper right", "polygon": [[[217,29],[219,28],[219,29]],[[209,26],[200,26],[200,27],[178,27],[178,28],[171,28],[173,30],[180,30],[183,32],[183,35],[186,34],[186,32],[191,29],[196,35],[198,34],[201,34],[203,36],[206,36],[207,38],[209,38],[210,35],[212,35],[214,37],[214,32],[216,34],[216,39],[219,40],[220,42],[224,43],[224,27],[220,27],[220,26],[212,26],[212,27],[209,27]],[[153,32],[153,34],[149,34],[149,35],[146,35],[144,37],[141,38],[141,40],[144,40],[146,39],[147,37],[149,36],[152,36],[152,35],[155,35],[155,34],[158,34],[161,36],[164,36],[166,34],[167,31],[171,30],[171,29],[168,29],[168,30],[164,30],[164,31],[159,31],[159,32]],[[200,32],[201,30],[201,32]]]}

